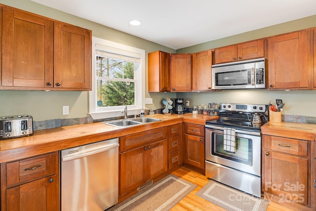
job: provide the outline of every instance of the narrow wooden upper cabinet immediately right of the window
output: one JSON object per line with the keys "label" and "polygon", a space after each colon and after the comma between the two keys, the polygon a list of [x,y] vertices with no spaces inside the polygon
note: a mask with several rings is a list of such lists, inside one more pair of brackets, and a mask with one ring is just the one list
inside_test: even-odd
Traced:
{"label": "narrow wooden upper cabinet immediately right of the window", "polygon": [[170,91],[170,53],[148,54],[148,91]]}

